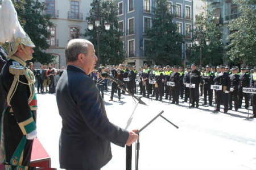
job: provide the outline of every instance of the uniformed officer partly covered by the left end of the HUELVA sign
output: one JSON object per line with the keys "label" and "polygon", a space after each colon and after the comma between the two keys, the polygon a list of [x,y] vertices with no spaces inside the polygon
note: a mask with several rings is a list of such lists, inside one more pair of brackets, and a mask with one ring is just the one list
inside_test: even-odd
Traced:
{"label": "uniformed officer partly covered by the left end of the HUELVA sign", "polygon": [[[238,85],[238,108],[242,107],[242,99],[245,97],[245,109],[249,108],[249,93],[243,93],[243,88],[250,87],[250,77],[245,73],[245,68],[241,68],[242,74],[240,74],[240,83]],[[250,72],[249,72],[250,73]]]}

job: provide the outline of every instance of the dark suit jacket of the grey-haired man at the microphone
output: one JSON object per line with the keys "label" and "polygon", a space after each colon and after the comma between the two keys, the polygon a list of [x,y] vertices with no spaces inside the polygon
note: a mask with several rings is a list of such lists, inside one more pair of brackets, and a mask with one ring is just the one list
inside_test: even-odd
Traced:
{"label": "dark suit jacket of the grey-haired man at the microphone", "polygon": [[124,147],[129,132],[110,123],[92,78],[68,65],[56,87],[62,118],[60,168],[100,169],[110,159],[110,142]]}

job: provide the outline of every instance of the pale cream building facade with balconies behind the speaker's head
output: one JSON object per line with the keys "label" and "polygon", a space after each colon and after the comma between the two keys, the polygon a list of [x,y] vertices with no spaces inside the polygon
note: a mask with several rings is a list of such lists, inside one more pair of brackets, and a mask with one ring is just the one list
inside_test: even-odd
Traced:
{"label": "pale cream building facade with balconies behind the speaker's head", "polygon": [[55,56],[55,68],[65,67],[65,47],[71,39],[81,38],[87,28],[86,16],[92,0],[40,0],[46,3],[44,14],[51,15],[53,27],[47,40],[50,47],[46,50]]}

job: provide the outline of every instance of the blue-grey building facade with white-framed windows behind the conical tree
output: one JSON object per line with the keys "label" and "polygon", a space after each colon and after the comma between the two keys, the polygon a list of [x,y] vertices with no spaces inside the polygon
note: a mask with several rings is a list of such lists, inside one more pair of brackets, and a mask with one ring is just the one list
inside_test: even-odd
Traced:
{"label": "blue-grey building facade with white-framed windows behind the conical tree", "polygon": [[[178,31],[185,36],[181,59],[186,63],[186,48],[191,45],[193,26],[193,0],[167,0],[170,13],[175,14],[174,22]],[[119,30],[123,31],[121,40],[126,51],[126,64],[134,64],[137,68],[146,62],[144,49],[147,40],[144,31],[152,26],[155,0],[118,0]],[[152,63],[154,64],[154,63]]]}

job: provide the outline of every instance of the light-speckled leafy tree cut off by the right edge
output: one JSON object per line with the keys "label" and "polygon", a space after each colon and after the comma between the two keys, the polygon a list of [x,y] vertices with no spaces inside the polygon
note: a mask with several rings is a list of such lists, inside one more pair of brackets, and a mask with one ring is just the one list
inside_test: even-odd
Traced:
{"label": "light-speckled leafy tree cut off by the right edge", "polygon": [[[234,0],[240,16],[229,23],[227,55],[235,63],[256,64],[256,3],[253,0]],[[253,5],[254,4],[254,5]]]}

